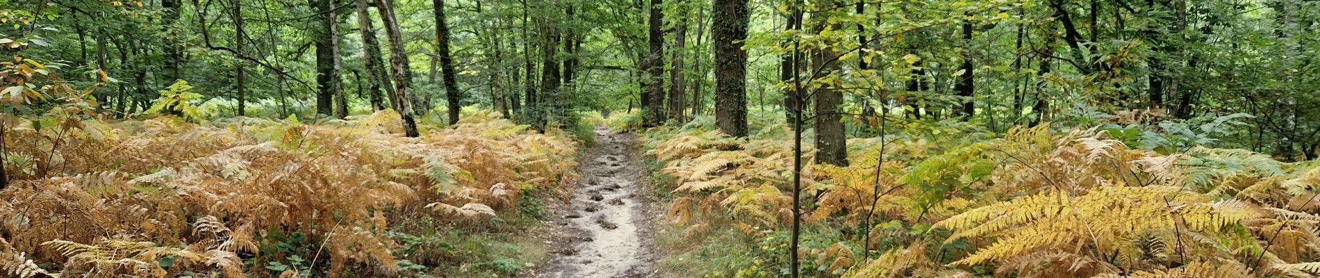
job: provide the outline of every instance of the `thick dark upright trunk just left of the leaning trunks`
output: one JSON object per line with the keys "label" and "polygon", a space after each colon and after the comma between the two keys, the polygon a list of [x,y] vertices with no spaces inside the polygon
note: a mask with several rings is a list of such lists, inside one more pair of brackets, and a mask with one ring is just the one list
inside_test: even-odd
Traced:
{"label": "thick dark upright trunk just left of the leaning trunks", "polygon": [[317,22],[312,30],[312,40],[317,46],[317,113],[334,113],[334,97],[339,92],[339,69],[335,59],[339,57],[337,21],[333,11],[334,0],[308,0],[313,17]]}

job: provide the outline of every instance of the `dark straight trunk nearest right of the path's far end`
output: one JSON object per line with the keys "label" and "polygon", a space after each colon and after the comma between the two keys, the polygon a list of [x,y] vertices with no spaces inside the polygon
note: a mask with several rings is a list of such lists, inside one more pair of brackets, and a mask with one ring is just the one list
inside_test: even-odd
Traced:
{"label": "dark straight trunk nearest right of the path's far end", "polygon": [[651,0],[651,17],[648,20],[651,30],[648,42],[651,53],[647,54],[647,105],[643,111],[647,126],[659,126],[667,119],[664,111],[664,13],[663,0]]}

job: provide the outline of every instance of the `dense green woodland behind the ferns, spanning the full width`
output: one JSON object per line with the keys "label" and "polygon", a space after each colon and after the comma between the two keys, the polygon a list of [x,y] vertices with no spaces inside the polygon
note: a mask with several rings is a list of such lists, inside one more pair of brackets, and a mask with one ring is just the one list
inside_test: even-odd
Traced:
{"label": "dense green woodland behind the ferns, spanning the full width", "polygon": [[1151,123],[1245,113],[1234,146],[1284,159],[1320,148],[1309,1],[7,5],[7,51],[58,66],[75,88],[99,84],[99,108],[117,116],[183,79],[213,117],[345,117],[393,108],[407,87],[414,115],[475,104],[560,123],[635,107],[659,125],[729,105],[791,111],[783,88],[797,51],[804,84],[834,83],[820,95],[841,99],[825,103],[841,103],[840,116],[903,109],[1007,130],[1123,111],[1150,111]]}

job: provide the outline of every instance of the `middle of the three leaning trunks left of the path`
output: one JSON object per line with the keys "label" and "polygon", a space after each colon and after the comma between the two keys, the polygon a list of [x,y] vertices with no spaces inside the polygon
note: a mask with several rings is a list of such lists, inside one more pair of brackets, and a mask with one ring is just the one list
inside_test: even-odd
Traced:
{"label": "middle of the three leaning trunks left of the path", "polygon": [[395,9],[389,0],[376,0],[376,11],[380,11],[380,21],[385,25],[385,36],[389,37],[389,67],[395,78],[395,111],[404,121],[404,134],[417,137],[417,123],[412,117],[412,108],[408,103],[408,57],[404,53],[404,38],[399,32],[399,22],[395,21]]}

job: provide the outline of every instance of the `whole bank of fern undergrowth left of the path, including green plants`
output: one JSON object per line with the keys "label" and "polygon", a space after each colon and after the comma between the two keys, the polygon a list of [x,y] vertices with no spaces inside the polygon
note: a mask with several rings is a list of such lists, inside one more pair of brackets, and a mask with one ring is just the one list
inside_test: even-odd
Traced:
{"label": "whole bank of fern undergrowth left of the path, including green plants", "polygon": [[[564,196],[579,142],[467,113],[420,138],[388,111],[7,125],[0,265],[24,278],[516,271],[506,258],[535,244],[494,237],[535,227],[528,200]],[[416,246],[451,256],[399,257]]]}

